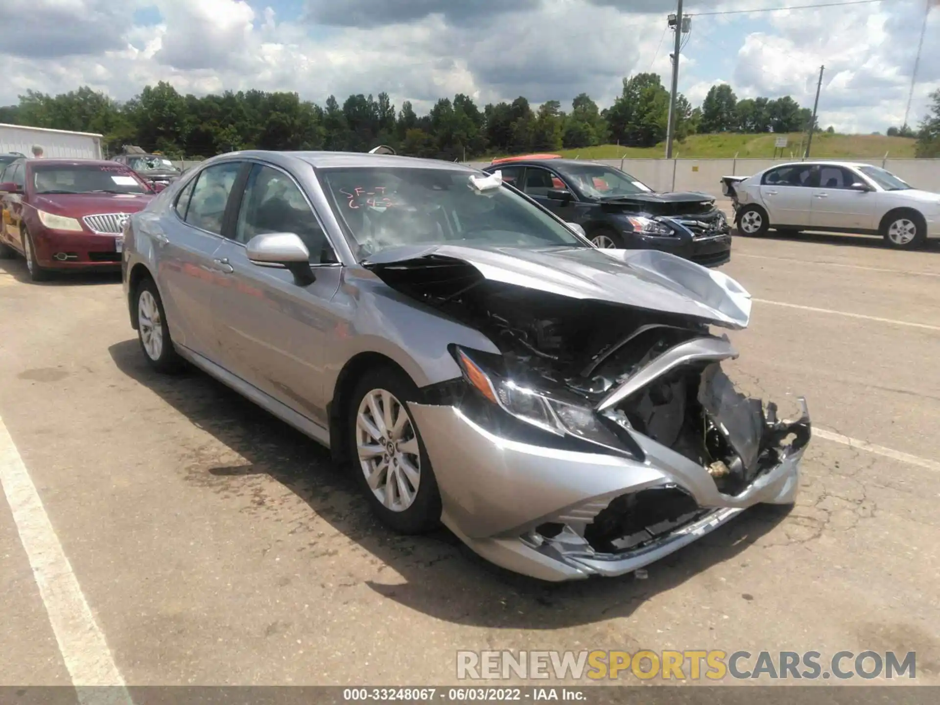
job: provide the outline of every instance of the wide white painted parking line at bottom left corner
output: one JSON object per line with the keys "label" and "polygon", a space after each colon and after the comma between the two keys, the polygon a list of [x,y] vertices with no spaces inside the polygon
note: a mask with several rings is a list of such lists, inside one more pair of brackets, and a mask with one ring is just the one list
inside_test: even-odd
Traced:
{"label": "wide white painted parking line at bottom left corner", "polygon": [[102,701],[102,691],[83,693],[83,687],[118,686],[109,688],[105,699],[113,703],[131,703],[111,650],[91,614],[82,588],[71,570],[69,558],[62,550],[36,486],[2,418],[0,484],[7,495],[13,521],[33,569],[55,641],[69,669],[71,682],[78,689],[79,700]]}

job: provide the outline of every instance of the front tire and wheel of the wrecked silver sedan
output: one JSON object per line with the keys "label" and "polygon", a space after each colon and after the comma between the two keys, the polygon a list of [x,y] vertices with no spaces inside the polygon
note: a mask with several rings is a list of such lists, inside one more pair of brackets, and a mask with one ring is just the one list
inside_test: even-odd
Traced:
{"label": "front tire and wheel of the wrecked silver sedan", "polygon": [[[436,528],[441,519],[437,480],[420,431],[406,406],[408,401],[417,399],[417,386],[399,369],[374,368],[363,375],[352,390],[344,421],[356,484],[379,520],[401,534],[428,532]],[[375,422],[370,402],[374,402],[374,408],[382,417],[381,423]],[[386,432],[386,403],[393,422],[400,419],[400,414],[406,415],[399,423],[398,440],[394,431],[391,435]],[[380,437],[376,438],[376,434]],[[360,458],[360,446],[371,446],[375,455]],[[390,471],[401,480],[391,488]]]}

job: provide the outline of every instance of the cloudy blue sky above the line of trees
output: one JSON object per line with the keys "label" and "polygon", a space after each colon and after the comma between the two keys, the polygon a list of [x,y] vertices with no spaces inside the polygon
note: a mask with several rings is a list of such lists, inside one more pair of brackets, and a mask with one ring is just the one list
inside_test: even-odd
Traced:
{"label": "cloudy blue sky above the line of trees", "polygon": [[[686,0],[692,14],[842,0]],[[700,102],[729,83],[739,98],[791,94],[844,132],[901,124],[926,0],[842,8],[699,14],[680,90]],[[297,91],[323,102],[388,92],[427,109],[462,92],[602,106],[623,76],[668,83],[674,0],[2,0],[0,104],[26,89],[89,85],[126,100],[169,81],[181,92]],[[932,11],[911,122],[940,87],[940,7]]]}

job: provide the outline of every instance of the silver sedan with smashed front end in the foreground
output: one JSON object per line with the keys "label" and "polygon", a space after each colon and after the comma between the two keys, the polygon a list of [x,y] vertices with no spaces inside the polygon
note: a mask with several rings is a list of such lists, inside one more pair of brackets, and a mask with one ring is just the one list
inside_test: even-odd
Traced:
{"label": "silver sedan with smashed front end in the foreground", "polygon": [[712,332],[747,326],[749,294],[598,249],[498,175],[227,154],[133,216],[123,264],[154,368],[195,364],[329,446],[395,530],[443,522],[558,581],[794,501],[806,405],[740,394]]}

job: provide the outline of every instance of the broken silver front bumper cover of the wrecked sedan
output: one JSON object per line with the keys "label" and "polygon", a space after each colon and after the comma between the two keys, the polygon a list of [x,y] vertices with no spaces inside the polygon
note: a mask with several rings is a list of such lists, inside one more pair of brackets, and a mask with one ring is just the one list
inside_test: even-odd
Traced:
{"label": "broken silver front bumper cover of the wrecked sedan", "polygon": [[[501,438],[452,406],[409,407],[434,467],[445,525],[493,563],[551,581],[633,572],[748,507],[791,504],[806,449],[780,447],[776,464],[728,494],[706,467],[639,433],[642,462]],[[808,415],[799,423],[808,434]],[[599,551],[585,538],[587,525],[619,497],[664,488],[689,495],[697,508],[690,520],[623,551]],[[545,537],[537,530],[543,525],[562,528]]]}

